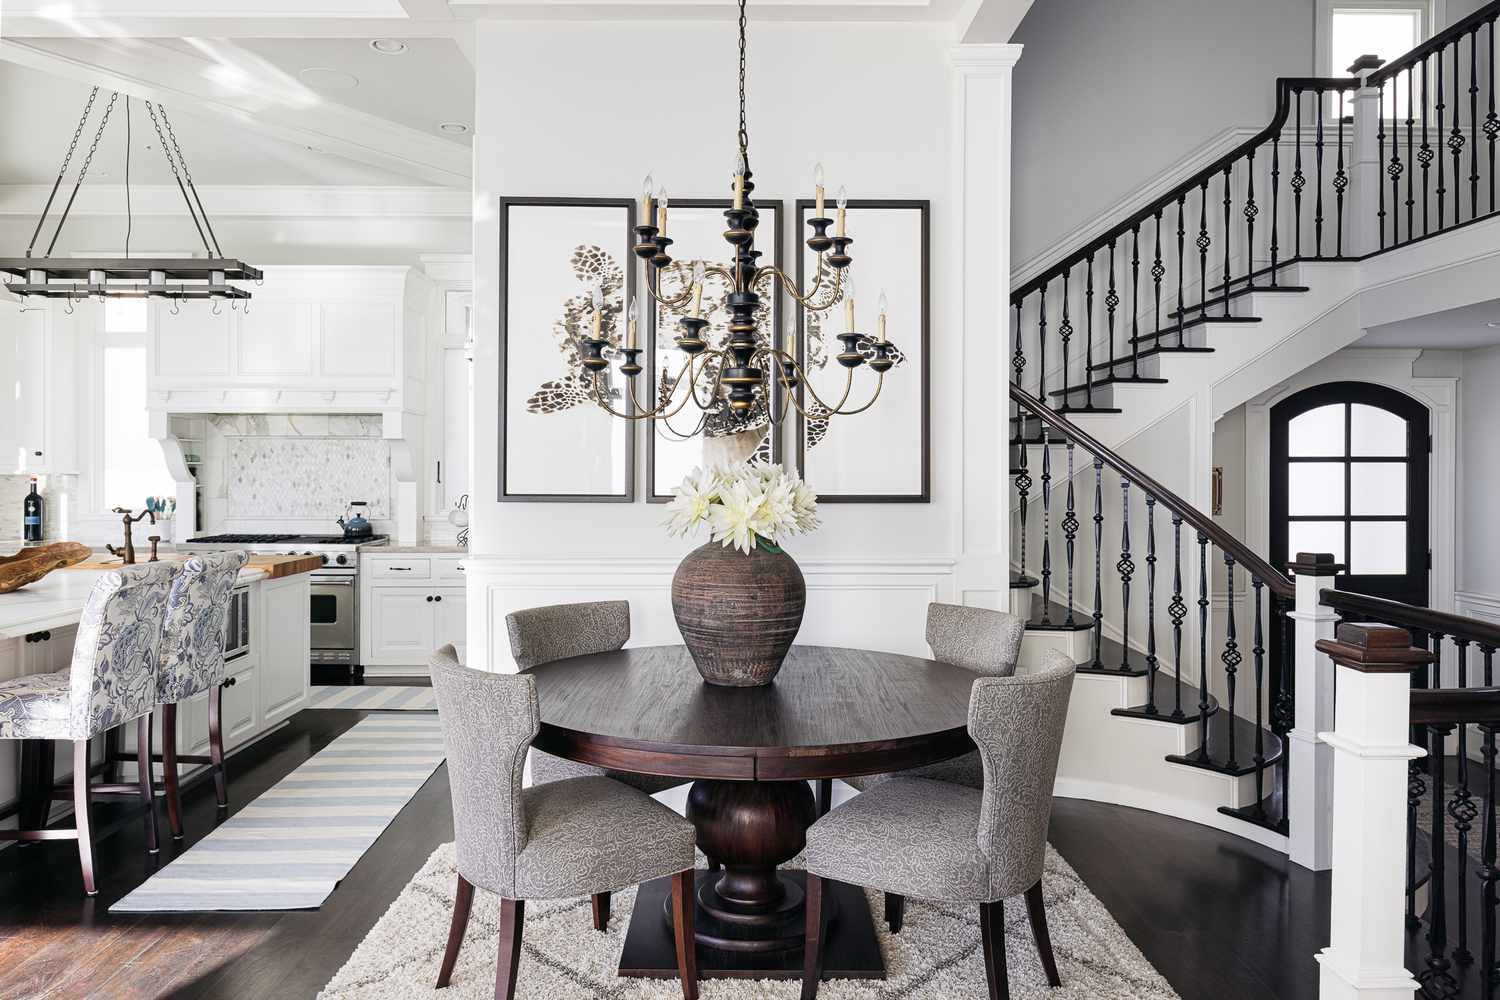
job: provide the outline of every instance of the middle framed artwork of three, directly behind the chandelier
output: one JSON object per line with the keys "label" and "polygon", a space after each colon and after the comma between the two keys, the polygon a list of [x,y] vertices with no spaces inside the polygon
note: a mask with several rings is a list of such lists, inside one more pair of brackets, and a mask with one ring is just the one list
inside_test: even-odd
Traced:
{"label": "middle framed artwork of three, directly behind the chandelier", "polygon": [[[693,261],[729,262],[729,244],[724,243],[724,210],[730,207],[728,198],[723,199],[672,199],[668,208],[668,235],[672,237],[672,258],[682,262],[686,268]],[[760,211],[760,226],[756,229],[756,249],[770,261],[782,267],[782,202],[756,198],[756,208]],[[674,268],[675,270],[675,268]],[[666,294],[670,295],[680,288],[676,277],[666,282]],[[648,294],[648,292],[645,292]],[[708,319],[704,339],[710,349],[718,349],[729,339],[729,285],[717,276],[708,274],[704,282],[702,315]],[[776,336],[784,340],[780,285],[771,282],[764,288],[765,301],[760,306],[760,336]],[[690,315],[688,306],[664,306],[651,301],[646,325],[650,333],[646,370],[650,381],[646,388],[651,399],[640,399],[642,406],[656,406],[669,393],[676,391],[676,399],[684,399],[681,393],[687,387],[676,388],[674,381],[682,370],[686,355],[676,348],[675,337],[681,331],[678,325],[682,316]],[[706,384],[712,378],[711,372],[699,381],[699,391],[706,393]],[[780,384],[777,382],[777,388]],[[784,400],[772,397],[770,406],[777,414],[789,408]],[[783,460],[783,438],[776,424],[766,415],[764,406],[756,406],[747,420],[723,414],[705,414],[688,402],[675,417],[668,420],[648,420],[646,424],[646,499],[652,504],[664,504],[672,499],[672,487],[682,481],[694,466],[711,463],[728,463],[744,457],[759,457],[766,462]],[[748,430],[741,430],[748,427]]]}

